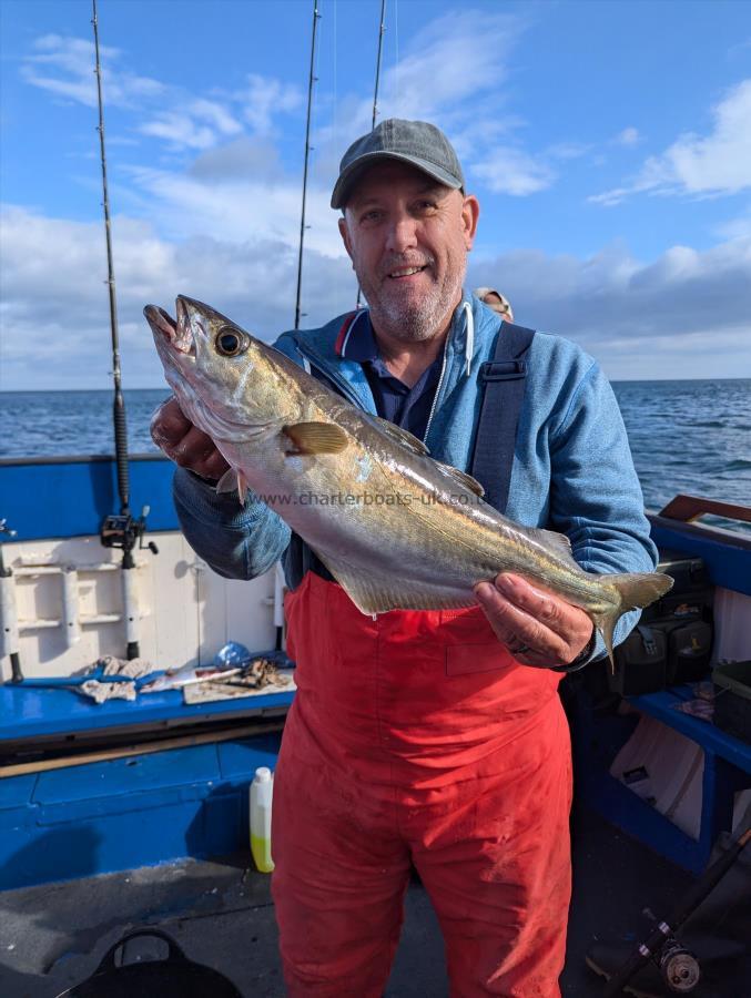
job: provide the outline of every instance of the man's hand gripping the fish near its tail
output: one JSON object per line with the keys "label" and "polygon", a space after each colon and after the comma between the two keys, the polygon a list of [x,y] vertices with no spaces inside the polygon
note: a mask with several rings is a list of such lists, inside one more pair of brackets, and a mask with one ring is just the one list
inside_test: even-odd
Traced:
{"label": "man's hand gripping the fish near its tail", "polygon": [[520,576],[478,582],[475,597],[498,640],[524,665],[568,665],[587,646],[592,622],[583,610]]}

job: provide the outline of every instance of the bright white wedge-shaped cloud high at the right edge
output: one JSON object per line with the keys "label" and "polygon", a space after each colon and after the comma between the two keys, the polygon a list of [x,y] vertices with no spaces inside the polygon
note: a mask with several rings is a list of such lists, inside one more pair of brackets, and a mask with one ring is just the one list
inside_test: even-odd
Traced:
{"label": "bright white wedge-shaped cloud high at the right edge", "polygon": [[717,196],[751,187],[751,80],[732,88],[712,115],[709,135],[680,135],[630,183],[589,200],[611,205],[637,193]]}

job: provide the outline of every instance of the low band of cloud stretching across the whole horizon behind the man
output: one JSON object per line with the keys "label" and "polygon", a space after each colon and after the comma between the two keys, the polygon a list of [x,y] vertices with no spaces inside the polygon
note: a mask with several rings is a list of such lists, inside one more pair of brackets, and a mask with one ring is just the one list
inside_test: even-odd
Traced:
{"label": "low band of cloud stretching across the whole horizon behind the man", "polygon": [[[328,216],[335,236],[335,218]],[[265,339],[293,322],[297,255],[290,241],[185,235],[116,217],[115,275],[128,387],[159,386],[143,306],[176,294],[214,305]],[[101,223],[7,207],[2,222],[3,389],[106,387],[111,368]],[[473,261],[469,286],[498,287],[517,318],[581,343],[613,377],[750,376],[751,238],[656,261],[610,246],[588,259],[516,251]],[[41,292],[41,293],[40,293]],[[353,307],[348,261],[309,246],[303,303],[316,325]]]}

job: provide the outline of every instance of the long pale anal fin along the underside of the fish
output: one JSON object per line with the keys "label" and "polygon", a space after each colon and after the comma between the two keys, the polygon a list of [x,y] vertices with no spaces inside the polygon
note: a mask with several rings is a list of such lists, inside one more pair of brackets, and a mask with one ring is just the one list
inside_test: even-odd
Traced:
{"label": "long pale anal fin along the underside of the fish", "polygon": [[420,588],[419,582],[403,582],[396,576],[365,573],[331,554],[316,554],[362,613],[386,613],[388,610],[446,610],[474,607],[476,600],[466,594],[442,593]]}

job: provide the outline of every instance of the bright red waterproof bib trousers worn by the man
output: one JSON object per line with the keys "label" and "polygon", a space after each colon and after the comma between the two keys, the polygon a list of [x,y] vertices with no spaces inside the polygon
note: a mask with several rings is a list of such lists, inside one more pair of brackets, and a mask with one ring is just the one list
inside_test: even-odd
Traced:
{"label": "bright red waterproof bib trousers worn by the man", "polygon": [[274,777],[288,994],[379,998],[410,862],[454,998],[558,998],[570,898],[560,675],[481,610],[376,619],[308,572],[286,599],[297,694]]}

